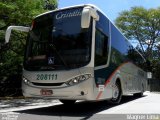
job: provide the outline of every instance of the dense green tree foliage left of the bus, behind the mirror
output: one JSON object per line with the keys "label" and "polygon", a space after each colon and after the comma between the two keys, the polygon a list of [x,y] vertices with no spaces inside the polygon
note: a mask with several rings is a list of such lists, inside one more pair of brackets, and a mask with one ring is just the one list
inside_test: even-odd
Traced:
{"label": "dense green tree foliage left of the bus, behind the mirror", "polygon": [[[57,0],[50,0],[49,4],[51,6],[54,4],[52,9],[55,9]],[[17,75],[21,79],[27,36],[26,33],[14,31],[7,47],[8,50],[2,50],[7,27],[10,25],[30,26],[35,16],[47,11],[44,7],[45,0],[0,0],[0,85],[6,80],[13,81]]]}

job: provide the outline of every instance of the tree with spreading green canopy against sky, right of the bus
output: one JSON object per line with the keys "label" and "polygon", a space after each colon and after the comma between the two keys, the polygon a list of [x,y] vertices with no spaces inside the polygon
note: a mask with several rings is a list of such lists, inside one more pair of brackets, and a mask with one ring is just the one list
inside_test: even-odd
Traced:
{"label": "tree with spreading green canopy against sky, right of the bus", "polygon": [[130,11],[122,11],[115,23],[129,40],[138,41],[137,47],[141,49],[146,58],[153,59],[155,58],[153,53],[159,50],[159,18],[160,7],[157,9],[133,7]]}

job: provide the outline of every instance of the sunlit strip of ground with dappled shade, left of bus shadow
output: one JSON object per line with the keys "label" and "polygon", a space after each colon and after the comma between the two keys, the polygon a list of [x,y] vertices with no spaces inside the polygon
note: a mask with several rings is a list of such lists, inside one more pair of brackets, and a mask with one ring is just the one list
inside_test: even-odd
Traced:
{"label": "sunlit strip of ground with dappled shade, left of bus shadow", "polygon": [[58,100],[53,99],[34,99],[34,98],[3,98],[0,100],[0,113],[23,110],[23,109],[31,109],[31,108],[39,108],[45,106],[52,106],[60,103]]}

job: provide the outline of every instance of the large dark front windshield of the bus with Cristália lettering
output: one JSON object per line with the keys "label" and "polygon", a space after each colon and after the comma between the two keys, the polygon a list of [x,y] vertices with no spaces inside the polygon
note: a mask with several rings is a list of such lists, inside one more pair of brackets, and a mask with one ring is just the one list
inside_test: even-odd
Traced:
{"label": "large dark front windshield of the bus with Crist\u00e1lia lettering", "polygon": [[83,8],[48,13],[37,17],[29,32],[26,70],[73,69],[91,59],[91,25],[81,28]]}

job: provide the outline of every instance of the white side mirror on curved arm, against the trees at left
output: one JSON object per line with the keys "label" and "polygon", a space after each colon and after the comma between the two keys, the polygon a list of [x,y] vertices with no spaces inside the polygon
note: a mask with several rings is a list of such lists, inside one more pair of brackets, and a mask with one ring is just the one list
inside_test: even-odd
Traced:
{"label": "white side mirror on curved arm, against the trees at left", "polygon": [[9,42],[10,36],[11,36],[11,31],[12,30],[18,30],[18,31],[23,31],[23,32],[29,32],[30,27],[23,27],[23,26],[9,26],[6,30],[5,34],[5,44]]}

